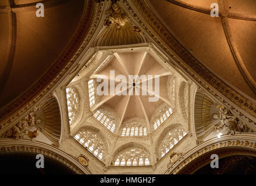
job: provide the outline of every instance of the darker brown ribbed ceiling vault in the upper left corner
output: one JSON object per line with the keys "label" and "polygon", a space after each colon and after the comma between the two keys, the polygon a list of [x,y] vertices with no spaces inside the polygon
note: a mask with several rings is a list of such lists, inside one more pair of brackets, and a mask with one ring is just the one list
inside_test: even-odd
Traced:
{"label": "darker brown ribbed ceiling vault in the upper left corner", "polygon": [[[38,2],[44,3],[44,17],[35,16]],[[71,41],[86,2],[0,2],[0,108],[51,69]]]}

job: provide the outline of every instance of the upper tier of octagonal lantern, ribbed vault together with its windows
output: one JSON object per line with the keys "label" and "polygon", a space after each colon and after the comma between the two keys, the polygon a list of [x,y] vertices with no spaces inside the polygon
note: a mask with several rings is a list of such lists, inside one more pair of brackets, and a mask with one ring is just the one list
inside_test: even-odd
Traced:
{"label": "upper tier of octagonal lantern, ribbed vault together with its windows", "polygon": [[112,133],[145,136],[175,109],[173,69],[152,47],[103,48],[70,85],[84,78],[88,94],[82,95],[88,95],[87,112]]}

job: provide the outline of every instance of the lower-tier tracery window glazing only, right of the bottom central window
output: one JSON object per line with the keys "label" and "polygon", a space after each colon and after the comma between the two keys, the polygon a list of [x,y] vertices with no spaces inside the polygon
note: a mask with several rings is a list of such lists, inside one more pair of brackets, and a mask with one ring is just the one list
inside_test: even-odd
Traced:
{"label": "lower-tier tracery window glazing only, right of the bottom central window", "polygon": [[159,146],[159,155],[163,157],[166,153],[170,151],[186,135],[186,131],[183,128],[178,127],[170,130],[166,133]]}

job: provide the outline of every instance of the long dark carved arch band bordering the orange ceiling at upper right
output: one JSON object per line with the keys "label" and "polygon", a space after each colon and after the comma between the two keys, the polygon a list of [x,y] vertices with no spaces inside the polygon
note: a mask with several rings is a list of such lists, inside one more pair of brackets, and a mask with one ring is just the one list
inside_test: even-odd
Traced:
{"label": "long dark carved arch band bordering the orange ceiling at upper right", "polygon": [[[120,5],[121,3],[119,3]],[[237,115],[252,123],[246,113],[256,117],[256,103],[250,101],[246,96],[233,90],[229,85],[216,77],[211,71],[205,68],[197,59],[194,58],[163,26],[157,16],[148,7],[144,0],[123,1],[123,7],[133,15],[132,19],[136,21],[137,26],[141,28],[154,43],[162,48],[163,52],[170,57],[170,63],[179,66],[191,78],[204,87],[205,90],[214,95],[220,102],[229,106]],[[141,16],[138,16],[139,13]],[[143,17],[141,19],[140,17]],[[176,53],[180,59],[174,55]],[[232,103],[231,103],[232,102]],[[239,107],[246,113],[241,113],[234,107]],[[255,123],[254,123],[255,124]]]}

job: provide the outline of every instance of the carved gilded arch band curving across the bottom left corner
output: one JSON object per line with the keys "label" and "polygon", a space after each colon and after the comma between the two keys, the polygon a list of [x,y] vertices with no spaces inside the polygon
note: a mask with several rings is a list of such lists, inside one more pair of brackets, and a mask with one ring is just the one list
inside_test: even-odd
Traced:
{"label": "carved gilded arch band curving across the bottom left corner", "polygon": [[29,140],[1,140],[0,153],[6,152],[33,152],[40,153],[50,158],[58,160],[62,164],[75,171],[77,174],[91,174],[90,171],[81,164],[77,158],[61,151],[54,146],[42,142]]}

